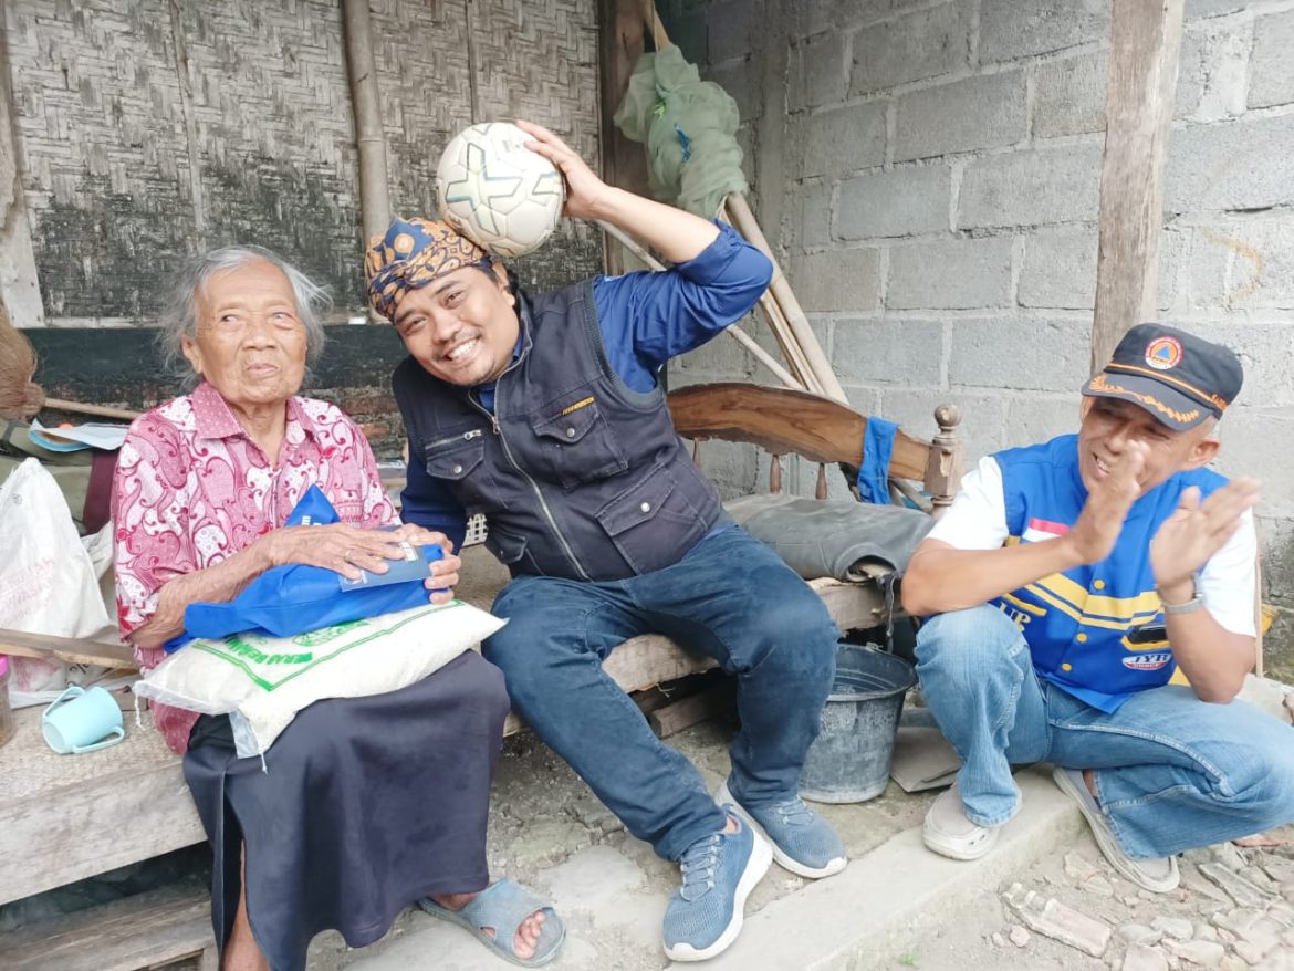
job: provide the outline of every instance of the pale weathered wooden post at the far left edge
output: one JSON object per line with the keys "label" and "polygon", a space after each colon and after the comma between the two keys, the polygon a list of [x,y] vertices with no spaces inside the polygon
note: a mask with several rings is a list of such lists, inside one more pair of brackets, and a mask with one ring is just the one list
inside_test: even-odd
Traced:
{"label": "pale weathered wooden post at the far left edge", "polygon": [[22,166],[9,91],[9,58],[5,41],[5,4],[0,3],[0,307],[16,328],[43,328],[45,311],[36,284],[36,258],[31,249],[31,224],[22,195]]}

